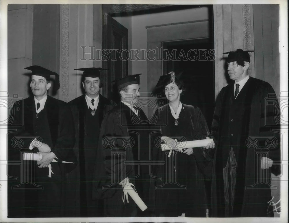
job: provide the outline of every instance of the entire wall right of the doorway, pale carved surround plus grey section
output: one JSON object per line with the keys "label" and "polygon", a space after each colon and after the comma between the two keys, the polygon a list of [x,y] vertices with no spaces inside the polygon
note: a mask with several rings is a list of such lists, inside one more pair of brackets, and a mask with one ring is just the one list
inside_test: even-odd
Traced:
{"label": "entire wall right of the doorway, pale carved surround plus grey section", "polygon": [[270,83],[279,95],[279,5],[214,5],[216,97],[228,84],[222,53],[254,50],[249,75]]}

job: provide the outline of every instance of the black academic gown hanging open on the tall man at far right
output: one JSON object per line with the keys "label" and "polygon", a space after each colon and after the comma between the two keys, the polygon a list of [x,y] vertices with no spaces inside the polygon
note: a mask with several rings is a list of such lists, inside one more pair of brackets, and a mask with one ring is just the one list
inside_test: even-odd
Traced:
{"label": "black academic gown hanging open on the tall man at far right", "polygon": [[[279,105],[273,88],[267,82],[250,77],[245,85],[247,91],[239,126],[240,152],[236,154],[238,160],[233,217],[273,217],[272,206],[269,205],[272,199],[270,178],[271,171],[275,175],[280,171],[280,165],[277,165],[280,161]],[[229,153],[231,145],[227,140],[229,131],[222,128],[228,126],[226,122],[230,121],[225,115],[225,108],[228,108],[226,105],[231,103],[233,97],[234,82],[220,91],[213,116],[211,134],[216,149],[212,169],[212,217],[225,216],[222,157],[223,153]],[[261,155],[264,154],[273,160],[270,169],[261,169]]]}

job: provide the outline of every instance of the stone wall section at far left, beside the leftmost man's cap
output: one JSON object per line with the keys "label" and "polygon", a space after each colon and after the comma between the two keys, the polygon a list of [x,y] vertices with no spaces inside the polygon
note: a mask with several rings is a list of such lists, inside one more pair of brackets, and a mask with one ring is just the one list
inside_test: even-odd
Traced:
{"label": "stone wall section at far left, beside the leftmost man's cap", "polygon": [[29,96],[29,77],[25,67],[32,65],[33,5],[8,5],[8,94]]}

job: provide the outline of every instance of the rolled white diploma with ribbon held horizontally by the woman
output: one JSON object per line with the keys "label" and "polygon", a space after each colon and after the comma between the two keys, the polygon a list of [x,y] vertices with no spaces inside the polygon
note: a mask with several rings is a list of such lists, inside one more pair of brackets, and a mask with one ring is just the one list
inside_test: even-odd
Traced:
{"label": "rolled white diploma with ribbon held horizontally by the woman", "polygon": [[[183,151],[183,149],[188,149],[188,148],[196,148],[196,147],[203,147],[208,145],[209,143],[213,142],[214,140],[212,138],[210,139],[200,139],[200,140],[192,140],[192,141],[185,141],[185,142],[176,142],[176,146],[178,151]],[[172,149],[168,147],[166,143],[163,143],[161,145],[162,151],[170,151],[168,154],[168,157],[171,156]]]}

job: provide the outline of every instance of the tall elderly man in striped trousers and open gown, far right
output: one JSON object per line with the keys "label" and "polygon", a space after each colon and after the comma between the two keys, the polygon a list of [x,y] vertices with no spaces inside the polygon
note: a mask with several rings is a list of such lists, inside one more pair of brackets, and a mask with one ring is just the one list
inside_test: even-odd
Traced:
{"label": "tall elderly man in striped trousers and open gown, far right", "polygon": [[216,142],[212,217],[273,217],[270,178],[271,172],[279,173],[278,100],[269,83],[248,76],[248,51],[229,52],[227,65],[234,82],[218,95],[211,132]]}

